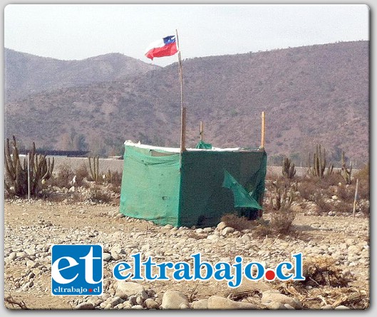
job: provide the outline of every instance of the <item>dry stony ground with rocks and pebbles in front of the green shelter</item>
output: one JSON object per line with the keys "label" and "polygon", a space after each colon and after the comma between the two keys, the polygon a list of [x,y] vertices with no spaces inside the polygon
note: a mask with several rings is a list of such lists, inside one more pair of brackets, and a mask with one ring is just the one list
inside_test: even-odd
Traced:
{"label": "dry stony ground with rocks and pebbles in front of the green shelter", "polygon": [[[269,214],[264,214],[269,219]],[[160,227],[123,217],[118,204],[6,199],[4,279],[7,308],[31,309],[363,309],[369,305],[369,219],[298,212],[289,235],[210,228]],[[103,244],[103,296],[51,296],[52,244]],[[303,253],[304,282],[116,281],[113,267],[143,259],[216,263],[260,261],[274,267]],[[13,303],[13,304],[11,304]]]}

